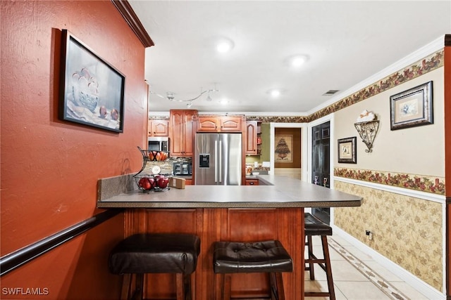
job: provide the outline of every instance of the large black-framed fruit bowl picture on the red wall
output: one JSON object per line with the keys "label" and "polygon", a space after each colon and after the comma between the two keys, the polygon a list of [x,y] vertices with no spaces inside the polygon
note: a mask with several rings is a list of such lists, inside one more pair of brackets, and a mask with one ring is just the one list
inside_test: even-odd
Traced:
{"label": "large black-framed fruit bowl picture on the red wall", "polygon": [[62,31],[59,118],[123,132],[125,76]]}

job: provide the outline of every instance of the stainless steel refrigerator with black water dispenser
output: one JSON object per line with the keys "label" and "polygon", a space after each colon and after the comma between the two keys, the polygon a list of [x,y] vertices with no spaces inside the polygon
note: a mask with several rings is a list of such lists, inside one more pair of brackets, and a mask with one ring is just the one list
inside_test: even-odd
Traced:
{"label": "stainless steel refrigerator with black water dispenser", "polygon": [[194,184],[241,184],[241,133],[196,133]]}

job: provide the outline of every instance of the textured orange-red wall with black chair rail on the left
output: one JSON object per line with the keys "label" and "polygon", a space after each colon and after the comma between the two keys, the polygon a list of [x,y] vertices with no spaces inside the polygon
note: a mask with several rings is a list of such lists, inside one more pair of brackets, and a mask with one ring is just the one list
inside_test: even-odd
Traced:
{"label": "textured orange-red wall with black chair rail on the left", "polygon": [[[4,256],[101,212],[99,178],[139,171],[147,94],[144,46],[111,1],[0,5]],[[123,133],[58,119],[61,29],[125,74]],[[0,298],[117,298],[120,281],[108,273],[107,256],[122,237],[123,214],[4,275]],[[15,288],[13,296],[7,289]]]}

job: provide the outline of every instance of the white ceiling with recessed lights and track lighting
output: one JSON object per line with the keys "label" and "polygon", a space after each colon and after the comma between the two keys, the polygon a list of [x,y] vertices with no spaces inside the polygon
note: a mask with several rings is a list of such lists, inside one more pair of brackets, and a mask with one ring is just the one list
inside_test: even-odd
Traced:
{"label": "white ceiling with recessed lights and track lighting", "polygon": [[[451,34],[451,1],[129,0],[155,46],[146,49],[149,111],[302,115]],[[214,41],[232,39],[229,53]],[[299,70],[288,57],[305,54]],[[282,89],[272,98],[270,89]],[[345,95],[347,96],[347,95]],[[227,98],[228,104],[219,100]]]}

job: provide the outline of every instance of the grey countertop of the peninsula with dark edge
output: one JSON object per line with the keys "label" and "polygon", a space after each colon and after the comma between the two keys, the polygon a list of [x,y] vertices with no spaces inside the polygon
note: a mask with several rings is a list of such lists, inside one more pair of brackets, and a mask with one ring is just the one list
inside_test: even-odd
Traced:
{"label": "grey countertop of the peninsula with dark edge", "polygon": [[132,190],[97,202],[99,208],[358,207],[362,197],[288,176],[259,175],[266,185],[186,185],[163,192]]}

